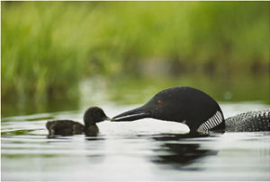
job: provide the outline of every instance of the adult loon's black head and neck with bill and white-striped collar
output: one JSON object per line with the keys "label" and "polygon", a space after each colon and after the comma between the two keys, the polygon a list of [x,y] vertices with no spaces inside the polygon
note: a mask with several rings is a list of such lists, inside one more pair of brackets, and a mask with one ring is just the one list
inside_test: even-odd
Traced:
{"label": "adult loon's black head and neck with bill and white-striped collar", "polygon": [[181,122],[192,132],[225,128],[219,104],[206,93],[191,87],[160,91],[143,106],[121,113],[112,121],[133,121],[145,117]]}

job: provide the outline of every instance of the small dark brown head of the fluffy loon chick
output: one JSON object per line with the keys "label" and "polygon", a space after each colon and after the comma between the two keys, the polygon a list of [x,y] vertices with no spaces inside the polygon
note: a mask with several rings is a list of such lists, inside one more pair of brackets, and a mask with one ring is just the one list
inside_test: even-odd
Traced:
{"label": "small dark brown head of the fluffy loon chick", "polygon": [[94,125],[95,123],[109,119],[110,118],[105,115],[103,109],[98,107],[88,108],[85,111],[84,115],[85,126],[91,126]]}

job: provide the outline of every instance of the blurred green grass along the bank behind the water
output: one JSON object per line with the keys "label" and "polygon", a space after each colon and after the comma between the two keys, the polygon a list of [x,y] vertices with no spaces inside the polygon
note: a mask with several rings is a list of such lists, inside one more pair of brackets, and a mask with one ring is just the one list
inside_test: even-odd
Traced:
{"label": "blurred green grass along the bank behind the water", "polygon": [[74,98],[84,78],[163,65],[167,76],[269,71],[269,2],[1,4],[2,100]]}

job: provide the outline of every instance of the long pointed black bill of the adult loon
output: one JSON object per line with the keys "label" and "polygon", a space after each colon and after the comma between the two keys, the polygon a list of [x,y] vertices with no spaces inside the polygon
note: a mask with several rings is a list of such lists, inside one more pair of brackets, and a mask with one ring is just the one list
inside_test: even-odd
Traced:
{"label": "long pointed black bill of the adult loon", "polygon": [[145,117],[150,117],[150,112],[145,111],[142,107],[139,107],[112,117],[111,121],[134,121]]}

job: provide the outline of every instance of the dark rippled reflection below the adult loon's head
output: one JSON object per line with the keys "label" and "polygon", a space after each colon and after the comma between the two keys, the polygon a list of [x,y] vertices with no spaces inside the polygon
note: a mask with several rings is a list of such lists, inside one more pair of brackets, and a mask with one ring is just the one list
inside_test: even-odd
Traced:
{"label": "dark rippled reflection below the adult loon's head", "polygon": [[[169,168],[186,169],[183,167],[218,153],[217,150],[202,148],[202,140],[203,143],[211,141],[209,134],[157,134],[152,139],[160,144],[153,150],[157,155],[151,161],[167,164]],[[188,169],[199,170],[193,167]]]}

